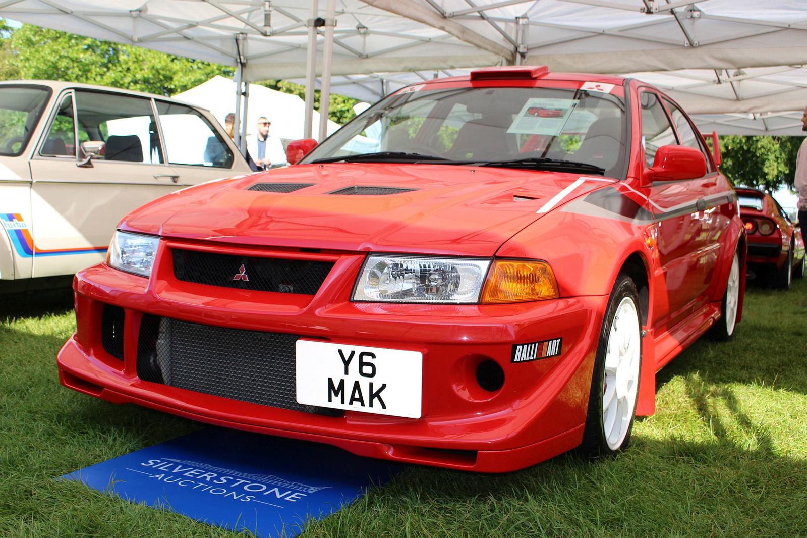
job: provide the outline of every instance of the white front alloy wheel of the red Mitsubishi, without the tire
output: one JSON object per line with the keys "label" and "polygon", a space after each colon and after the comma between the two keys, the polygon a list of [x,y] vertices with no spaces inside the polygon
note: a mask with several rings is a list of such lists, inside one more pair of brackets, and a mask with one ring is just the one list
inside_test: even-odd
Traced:
{"label": "white front alloy wheel of the red Mitsubishi, without the tire", "polygon": [[[735,295],[735,309],[736,304]],[[636,304],[631,297],[625,297],[613,317],[605,351],[603,433],[611,450],[621,447],[633,419],[639,386],[641,338]]]}

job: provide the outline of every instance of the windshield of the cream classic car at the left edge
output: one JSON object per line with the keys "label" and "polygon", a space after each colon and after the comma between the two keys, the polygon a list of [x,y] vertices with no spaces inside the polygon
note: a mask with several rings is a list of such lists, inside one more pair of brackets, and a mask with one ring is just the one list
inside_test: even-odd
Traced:
{"label": "windshield of the cream classic car at the left edge", "polygon": [[23,153],[50,93],[41,87],[0,86],[0,155]]}

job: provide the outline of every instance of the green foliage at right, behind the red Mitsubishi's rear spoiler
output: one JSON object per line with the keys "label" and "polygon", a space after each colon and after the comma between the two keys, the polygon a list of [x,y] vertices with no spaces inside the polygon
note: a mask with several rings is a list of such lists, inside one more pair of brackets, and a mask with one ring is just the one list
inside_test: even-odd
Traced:
{"label": "green foliage at right, behind the red Mitsubishi's rear spoiler", "polygon": [[793,186],[802,137],[720,137],[721,171],[734,185],[776,191]]}

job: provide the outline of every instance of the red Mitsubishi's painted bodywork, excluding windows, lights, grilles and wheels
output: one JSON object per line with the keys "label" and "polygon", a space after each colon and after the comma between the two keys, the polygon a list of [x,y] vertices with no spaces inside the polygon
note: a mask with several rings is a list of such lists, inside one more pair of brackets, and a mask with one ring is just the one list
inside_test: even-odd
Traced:
{"label": "red Mitsubishi's painted bodywork, excluding windows, lights, grilles and wheels", "polygon": [[[581,442],[608,296],[617,273],[633,271],[646,290],[637,414],[652,414],[654,373],[720,316],[734,253],[745,263],[745,229],[730,184],[717,172],[684,182],[645,179],[636,81],[550,74],[426,86],[579,88],[583,82],[614,84],[614,95],[632,95],[623,181],[507,168],[312,164],[207,183],[132,212],[119,229],[162,237],[153,274],[145,279],[99,264],[76,275],[77,332],[59,354],[61,383],[115,403],[332,443],[365,456],[479,472],[521,469]],[[261,182],[312,186],[286,195],[246,190]],[[327,194],[354,185],[419,190]],[[180,247],[334,265],[314,295],[255,293],[177,280],[170,251]],[[560,296],[508,305],[351,301],[366,254],[378,251],[542,259],[554,270]],[[104,305],[125,313],[122,359],[102,344]],[[145,314],[420,351],[422,416],[346,411],[328,417],[140,380],[137,343]],[[548,338],[562,338],[561,355],[512,364],[513,344]],[[504,370],[504,386],[495,393],[475,379],[487,359]]]}

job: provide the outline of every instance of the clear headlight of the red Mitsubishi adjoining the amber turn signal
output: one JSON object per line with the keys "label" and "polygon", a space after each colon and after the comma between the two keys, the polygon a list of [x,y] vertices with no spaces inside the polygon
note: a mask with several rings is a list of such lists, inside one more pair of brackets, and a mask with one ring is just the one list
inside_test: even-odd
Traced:
{"label": "clear headlight of the red Mitsubishi adjoining the amber turn signal", "polygon": [[370,255],[353,301],[475,303],[490,264],[489,259]]}

